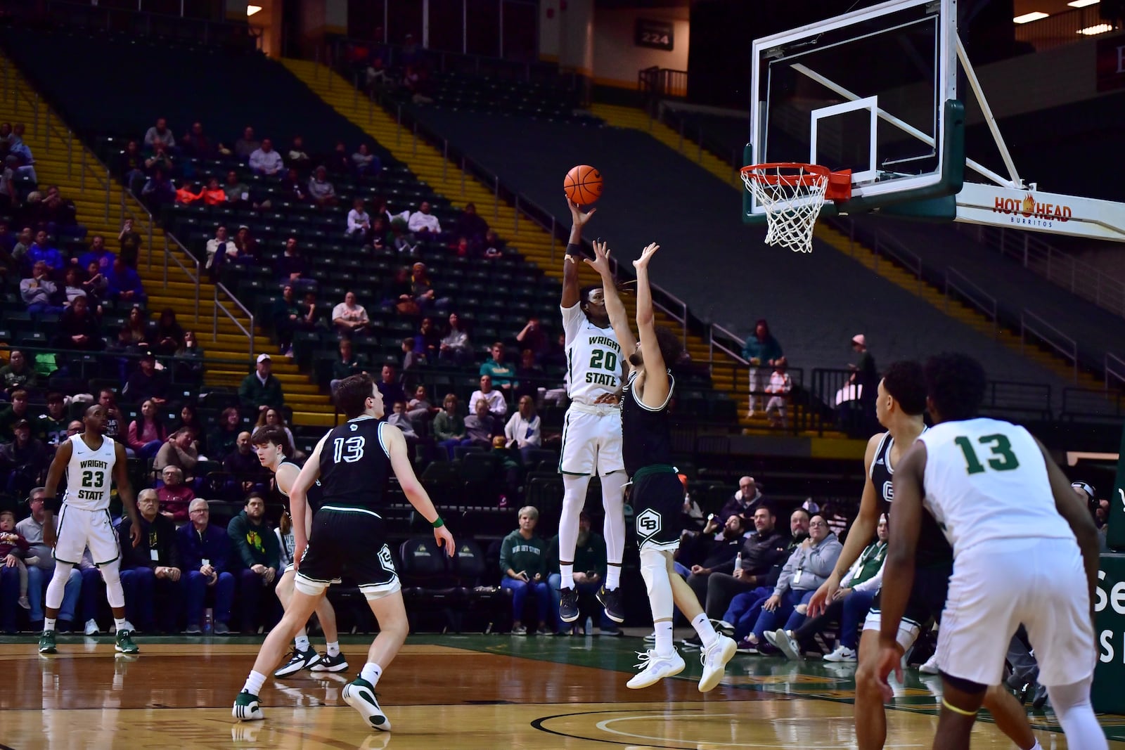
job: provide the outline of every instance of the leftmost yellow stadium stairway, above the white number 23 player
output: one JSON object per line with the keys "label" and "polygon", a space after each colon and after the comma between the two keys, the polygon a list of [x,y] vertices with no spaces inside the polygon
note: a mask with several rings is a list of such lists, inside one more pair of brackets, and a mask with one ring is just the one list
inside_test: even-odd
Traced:
{"label": "leftmost yellow stadium stairway, above the white number 23 player", "polygon": [[[78,220],[87,228],[87,237],[100,234],[106,237],[110,250],[117,249],[117,235],[120,232],[120,211],[124,188],[116,181],[109,182],[109,216],[106,217],[106,170],[92,152],[74,137],[62,120],[47,107],[35,89],[20,74],[19,70],[6,56],[0,55],[0,66],[8,76],[8,85],[15,87],[15,94],[9,97],[3,118],[27,124],[25,139],[35,155],[35,170],[39,184],[57,184],[62,195],[74,201],[78,208]],[[10,91],[10,89],[9,89]],[[17,109],[15,102],[19,102]],[[38,118],[32,109],[38,102]],[[35,120],[39,119],[39,127]],[[47,127],[51,129],[50,146]],[[66,155],[71,154],[71,169],[68,170]],[[87,165],[86,180],[81,179],[83,163]],[[148,313],[155,316],[164,308],[176,310],[177,320],[184,331],[195,331],[204,349],[204,390],[208,388],[237,388],[242,379],[253,368],[249,342],[238,325],[223,314],[218,316],[218,333],[215,334],[214,323],[214,284],[201,280],[199,289],[199,317],[195,310],[195,282],[176,263],[169,263],[168,283],[164,283],[164,232],[159,226],[150,227],[150,215],[141,204],[130,196],[124,196],[125,211],[134,217],[134,228],[145,238],[142,246],[137,271],[148,295]],[[148,232],[152,231],[152,246],[147,245]],[[179,249],[169,251],[180,263],[191,268],[195,260]],[[151,265],[150,265],[151,264]],[[250,327],[250,319],[226,300],[225,307],[233,309],[237,324]],[[107,337],[112,332],[104,331]],[[281,381],[286,395],[286,404],[292,408],[292,423],[296,425],[330,426],[335,424],[333,409],[328,397],[307,376],[299,372],[297,365],[281,355],[281,352],[270,341],[269,335],[255,326],[254,343],[256,352],[270,354],[273,361],[273,374]]]}

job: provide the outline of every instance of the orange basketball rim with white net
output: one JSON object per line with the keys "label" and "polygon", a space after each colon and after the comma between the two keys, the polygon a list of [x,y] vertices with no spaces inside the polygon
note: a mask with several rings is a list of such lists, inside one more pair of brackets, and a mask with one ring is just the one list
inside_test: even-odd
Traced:
{"label": "orange basketball rim with white net", "polygon": [[766,244],[812,252],[812,228],[828,200],[852,196],[850,171],[819,164],[770,163],[742,168],[742,182],[766,215]]}

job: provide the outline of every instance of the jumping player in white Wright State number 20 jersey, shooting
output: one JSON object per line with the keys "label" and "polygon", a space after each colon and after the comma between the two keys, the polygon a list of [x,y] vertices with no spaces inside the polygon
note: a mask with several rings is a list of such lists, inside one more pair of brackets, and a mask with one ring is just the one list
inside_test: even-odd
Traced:
{"label": "jumping player in white Wright State number 20 jersey, shooting", "polygon": [[[624,488],[628,481],[621,453],[621,360],[622,352],[613,335],[601,286],[580,289],[578,261],[582,257],[582,227],[594,215],[573,202],[570,240],[562,262],[562,329],[566,334],[566,361],[570,408],[562,427],[562,516],[559,518],[559,617],[578,618],[578,591],[574,580],[574,550],[578,543],[578,516],[586,503],[586,487],[594,473],[602,482],[605,507],[605,557],[609,563],[597,599],[605,615],[623,622],[621,558],[626,546]],[[593,582],[593,581],[587,581]]]}

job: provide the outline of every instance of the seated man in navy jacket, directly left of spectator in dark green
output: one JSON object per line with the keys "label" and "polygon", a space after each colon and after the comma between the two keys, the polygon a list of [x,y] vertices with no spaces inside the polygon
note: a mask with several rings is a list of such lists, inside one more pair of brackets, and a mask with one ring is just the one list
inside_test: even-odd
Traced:
{"label": "seated man in navy jacket, directly left of spectator in dark green", "polygon": [[231,537],[226,530],[210,525],[207,500],[195,499],[188,506],[190,524],[177,531],[187,608],[187,632],[201,632],[204,604],[208,591],[214,591],[215,634],[231,632],[231,605],[234,603],[234,573],[231,563]]}

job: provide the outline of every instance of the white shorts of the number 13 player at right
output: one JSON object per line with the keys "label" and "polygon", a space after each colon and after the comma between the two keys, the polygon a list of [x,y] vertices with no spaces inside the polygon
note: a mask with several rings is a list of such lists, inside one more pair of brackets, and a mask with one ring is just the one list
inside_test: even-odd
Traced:
{"label": "white shorts of the number 13 player at right", "polygon": [[1020,624],[1041,685],[1071,685],[1094,672],[1090,597],[1073,539],[983,543],[957,555],[937,634],[942,671],[998,685]]}

